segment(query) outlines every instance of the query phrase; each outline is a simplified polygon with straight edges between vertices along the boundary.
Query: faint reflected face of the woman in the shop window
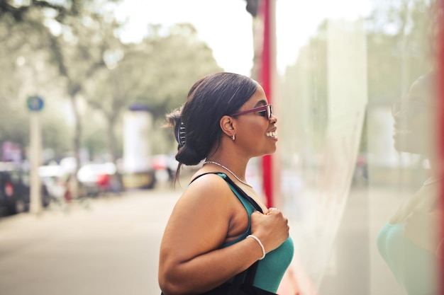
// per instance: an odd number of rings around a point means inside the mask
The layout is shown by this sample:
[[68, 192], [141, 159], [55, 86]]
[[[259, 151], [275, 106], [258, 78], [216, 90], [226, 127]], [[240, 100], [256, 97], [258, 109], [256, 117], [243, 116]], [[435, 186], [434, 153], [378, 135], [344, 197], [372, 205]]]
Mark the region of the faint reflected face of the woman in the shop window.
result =
[[432, 89], [416, 80], [405, 100], [394, 103], [394, 147], [397, 151], [431, 156], [435, 121]]

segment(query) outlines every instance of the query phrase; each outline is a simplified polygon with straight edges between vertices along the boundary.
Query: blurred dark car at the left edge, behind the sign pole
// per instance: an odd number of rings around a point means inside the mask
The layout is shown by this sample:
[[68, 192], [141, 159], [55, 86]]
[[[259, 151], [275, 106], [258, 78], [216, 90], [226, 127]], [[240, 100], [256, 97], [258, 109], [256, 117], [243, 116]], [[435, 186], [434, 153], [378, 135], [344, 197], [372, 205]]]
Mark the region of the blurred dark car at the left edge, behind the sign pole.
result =
[[[48, 207], [50, 195], [42, 184], [42, 206]], [[0, 216], [28, 212], [30, 209], [30, 176], [13, 163], [0, 163]]]

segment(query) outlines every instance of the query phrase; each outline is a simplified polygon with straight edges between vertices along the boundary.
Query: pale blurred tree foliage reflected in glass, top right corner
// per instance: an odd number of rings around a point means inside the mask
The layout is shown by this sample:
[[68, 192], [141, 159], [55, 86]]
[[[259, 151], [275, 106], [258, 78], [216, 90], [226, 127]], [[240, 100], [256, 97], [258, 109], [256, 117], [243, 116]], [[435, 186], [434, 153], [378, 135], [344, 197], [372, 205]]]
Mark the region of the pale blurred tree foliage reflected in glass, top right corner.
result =
[[379, 1], [367, 18], [371, 103], [400, 100], [414, 79], [433, 69], [438, 1]]

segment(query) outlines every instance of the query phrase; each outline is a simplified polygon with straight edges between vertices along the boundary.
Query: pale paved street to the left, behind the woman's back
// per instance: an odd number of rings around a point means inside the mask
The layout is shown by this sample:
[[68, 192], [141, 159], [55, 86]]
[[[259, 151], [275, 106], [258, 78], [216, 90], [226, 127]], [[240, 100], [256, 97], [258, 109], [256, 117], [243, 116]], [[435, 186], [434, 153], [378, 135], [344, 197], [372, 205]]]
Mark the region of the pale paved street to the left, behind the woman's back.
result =
[[179, 193], [125, 192], [0, 219], [0, 295], [160, 294], [160, 239]]

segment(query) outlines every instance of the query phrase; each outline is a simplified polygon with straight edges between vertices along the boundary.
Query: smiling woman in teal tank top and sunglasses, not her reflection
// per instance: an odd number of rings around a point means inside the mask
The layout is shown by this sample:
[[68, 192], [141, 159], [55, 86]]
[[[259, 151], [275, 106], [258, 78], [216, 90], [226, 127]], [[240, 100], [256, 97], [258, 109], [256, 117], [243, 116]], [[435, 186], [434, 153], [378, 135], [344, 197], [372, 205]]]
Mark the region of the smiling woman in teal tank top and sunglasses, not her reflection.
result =
[[194, 83], [183, 107], [167, 118], [179, 142], [177, 175], [182, 164], [205, 161], [167, 223], [160, 289], [203, 294], [260, 260], [253, 285], [275, 292], [293, 257], [289, 226], [245, 181], [250, 158], [276, 150], [277, 118], [262, 87], [246, 76], [211, 74]]

